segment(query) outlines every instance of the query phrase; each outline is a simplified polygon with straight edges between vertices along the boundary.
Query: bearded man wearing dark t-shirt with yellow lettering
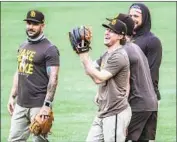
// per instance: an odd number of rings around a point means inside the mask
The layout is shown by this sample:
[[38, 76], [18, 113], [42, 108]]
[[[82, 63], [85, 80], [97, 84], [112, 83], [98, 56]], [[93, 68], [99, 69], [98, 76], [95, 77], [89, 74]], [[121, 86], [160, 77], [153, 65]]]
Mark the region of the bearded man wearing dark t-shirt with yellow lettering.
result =
[[[28, 39], [18, 50], [18, 70], [7, 105], [12, 116], [10, 142], [27, 141], [35, 115], [48, 115], [58, 83], [59, 51], [43, 34], [43, 13], [31, 10], [24, 21]], [[33, 138], [35, 142], [48, 141], [42, 135]]]

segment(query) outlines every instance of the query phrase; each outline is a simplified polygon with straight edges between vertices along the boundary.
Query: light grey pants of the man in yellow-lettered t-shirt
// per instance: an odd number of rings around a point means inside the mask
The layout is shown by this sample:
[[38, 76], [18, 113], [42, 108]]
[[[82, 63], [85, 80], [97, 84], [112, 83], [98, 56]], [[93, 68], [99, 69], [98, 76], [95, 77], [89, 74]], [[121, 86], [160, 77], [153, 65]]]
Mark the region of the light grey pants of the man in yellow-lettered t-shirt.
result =
[[[39, 112], [40, 108], [24, 108], [15, 105], [11, 118], [11, 128], [8, 142], [26, 142], [30, 136], [30, 121]], [[33, 142], [48, 142], [43, 136], [33, 136]]]

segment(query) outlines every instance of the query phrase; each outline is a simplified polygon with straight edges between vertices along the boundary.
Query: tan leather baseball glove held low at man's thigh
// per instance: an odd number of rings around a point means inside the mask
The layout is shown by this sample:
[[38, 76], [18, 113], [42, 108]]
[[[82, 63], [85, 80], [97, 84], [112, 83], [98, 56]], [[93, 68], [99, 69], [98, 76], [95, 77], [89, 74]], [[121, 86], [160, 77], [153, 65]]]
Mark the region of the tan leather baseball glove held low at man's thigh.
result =
[[53, 111], [47, 110], [47, 118], [42, 118], [41, 113], [37, 114], [29, 126], [30, 132], [34, 135], [47, 135], [52, 127], [54, 121]]

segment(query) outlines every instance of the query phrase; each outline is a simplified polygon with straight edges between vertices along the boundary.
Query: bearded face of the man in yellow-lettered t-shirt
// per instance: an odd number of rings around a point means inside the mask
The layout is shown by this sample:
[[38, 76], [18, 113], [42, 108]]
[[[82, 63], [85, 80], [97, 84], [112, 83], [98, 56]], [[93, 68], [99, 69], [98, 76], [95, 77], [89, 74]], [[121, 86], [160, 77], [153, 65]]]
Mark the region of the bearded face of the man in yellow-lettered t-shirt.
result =
[[32, 22], [32, 21], [26, 21], [26, 34], [30, 38], [36, 38], [38, 37], [44, 30], [44, 24]]

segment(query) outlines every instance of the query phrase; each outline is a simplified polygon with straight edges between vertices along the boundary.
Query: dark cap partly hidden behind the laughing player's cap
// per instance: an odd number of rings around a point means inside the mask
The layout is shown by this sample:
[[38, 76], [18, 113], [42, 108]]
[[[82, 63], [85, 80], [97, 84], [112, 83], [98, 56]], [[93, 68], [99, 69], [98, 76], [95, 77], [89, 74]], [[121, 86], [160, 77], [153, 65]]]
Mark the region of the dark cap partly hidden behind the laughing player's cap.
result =
[[116, 16], [115, 18], [106, 18], [108, 21], [111, 21], [113, 19], [119, 19], [122, 22], [124, 22], [127, 26], [127, 35], [131, 36], [133, 34], [133, 29], [134, 29], [134, 22], [133, 19], [128, 15], [128, 14], [123, 14], [120, 13], [118, 16]]

